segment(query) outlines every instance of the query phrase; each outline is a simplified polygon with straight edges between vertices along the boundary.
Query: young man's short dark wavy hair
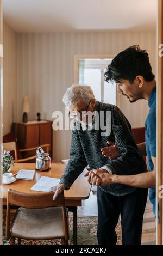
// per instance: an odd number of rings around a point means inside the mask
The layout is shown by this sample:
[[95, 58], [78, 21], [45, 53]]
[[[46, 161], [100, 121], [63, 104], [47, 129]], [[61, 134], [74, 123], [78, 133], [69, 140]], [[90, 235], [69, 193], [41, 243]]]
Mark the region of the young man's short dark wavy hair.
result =
[[106, 68], [105, 81], [120, 83], [121, 79], [132, 84], [136, 76], [143, 76], [145, 81], [151, 82], [155, 75], [152, 73], [149, 56], [146, 50], [141, 50], [139, 45], [133, 45], [118, 53]]

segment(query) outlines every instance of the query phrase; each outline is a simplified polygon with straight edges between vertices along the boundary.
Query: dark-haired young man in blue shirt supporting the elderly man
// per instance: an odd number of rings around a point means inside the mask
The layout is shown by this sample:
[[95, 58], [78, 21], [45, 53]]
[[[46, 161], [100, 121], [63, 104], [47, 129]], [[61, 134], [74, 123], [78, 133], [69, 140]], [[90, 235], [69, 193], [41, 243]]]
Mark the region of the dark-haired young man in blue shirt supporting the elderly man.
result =
[[[118, 183], [133, 187], [151, 188], [149, 199], [153, 204], [155, 214], [156, 81], [149, 63], [148, 53], [145, 50], [140, 50], [137, 45], [120, 52], [108, 66], [105, 72], [105, 80], [118, 83], [118, 92], [126, 96], [131, 103], [139, 99], [148, 100], [150, 109], [146, 119], [146, 141], [137, 144], [137, 149], [141, 155], [147, 155], [149, 172], [122, 176], [101, 173], [99, 170], [95, 170], [89, 173], [91, 183], [95, 184], [94, 179], [97, 180], [98, 176], [101, 178], [98, 182], [103, 186]], [[108, 143], [112, 144], [111, 142]], [[111, 159], [121, 155], [121, 153], [118, 153], [118, 145], [111, 145], [101, 150], [105, 157]]]

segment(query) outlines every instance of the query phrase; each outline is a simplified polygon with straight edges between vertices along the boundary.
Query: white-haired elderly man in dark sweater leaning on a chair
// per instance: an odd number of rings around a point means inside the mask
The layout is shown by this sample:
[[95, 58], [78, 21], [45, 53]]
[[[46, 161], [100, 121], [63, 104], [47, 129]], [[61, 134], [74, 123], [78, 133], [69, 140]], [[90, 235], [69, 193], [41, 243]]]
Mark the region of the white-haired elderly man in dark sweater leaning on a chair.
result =
[[[53, 200], [63, 190], [68, 190], [74, 180], [89, 164], [88, 180], [91, 183], [93, 170], [102, 173], [130, 175], [146, 172], [146, 164], [137, 151], [131, 126], [120, 109], [114, 105], [98, 102], [89, 86], [73, 85], [68, 88], [63, 102], [74, 119], [70, 161], [60, 184], [53, 187]], [[108, 113], [110, 118], [107, 119]], [[90, 115], [93, 115], [90, 122]], [[98, 118], [97, 118], [98, 117]], [[105, 123], [103, 130], [101, 122]], [[98, 125], [99, 124], [99, 125]], [[106, 141], [115, 141], [120, 156], [111, 160], [101, 154]], [[95, 181], [95, 176], [93, 176]], [[99, 185], [98, 176], [96, 185]], [[140, 245], [142, 221], [147, 200], [147, 189], [122, 184], [98, 186], [98, 243], [116, 245], [115, 227], [121, 214], [123, 245]]]

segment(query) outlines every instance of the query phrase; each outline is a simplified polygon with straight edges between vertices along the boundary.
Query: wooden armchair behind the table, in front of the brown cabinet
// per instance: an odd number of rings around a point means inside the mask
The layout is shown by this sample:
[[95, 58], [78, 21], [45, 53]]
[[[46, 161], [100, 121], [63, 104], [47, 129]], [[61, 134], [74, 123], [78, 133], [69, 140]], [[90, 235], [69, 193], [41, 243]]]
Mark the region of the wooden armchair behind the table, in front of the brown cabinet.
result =
[[[46, 153], [49, 153], [49, 148], [50, 148], [50, 144], [43, 144], [34, 148], [28, 148], [28, 149], [18, 149], [20, 153], [24, 152], [24, 151], [32, 151], [32, 150], [36, 150], [38, 147], [41, 147], [43, 149], [45, 149]], [[12, 142], [5, 142], [3, 143], [3, 150], [6, 151], [14, 151], [14, 162], [15, 163], [22, 163], [22, 162], [27, 162], [30, 160], [33, 160], [36, 158], [36, 155], [34, 156], [29, 156], [26, 158], [22, 158], [22, 159], [17, 159], [17, 147], [16, 147], [16, 142], [12, 141]]]

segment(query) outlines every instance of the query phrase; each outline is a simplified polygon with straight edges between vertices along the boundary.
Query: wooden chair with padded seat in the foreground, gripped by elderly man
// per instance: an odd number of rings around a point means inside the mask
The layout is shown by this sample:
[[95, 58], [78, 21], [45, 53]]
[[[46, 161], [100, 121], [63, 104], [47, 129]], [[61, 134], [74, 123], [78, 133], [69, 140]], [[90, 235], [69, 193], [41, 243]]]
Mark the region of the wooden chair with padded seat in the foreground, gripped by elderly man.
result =
[[[53, 201], [54, 193], [41, 194], [8, 191], [6, 239], [10, 245], [18, 245], [21, 239], [49, 240], [61, 239], [61, 245], [68, 244], [68, 223], [65, 208], [64, 192]], [[19, 206], [10, 224], [10, 206]]]

